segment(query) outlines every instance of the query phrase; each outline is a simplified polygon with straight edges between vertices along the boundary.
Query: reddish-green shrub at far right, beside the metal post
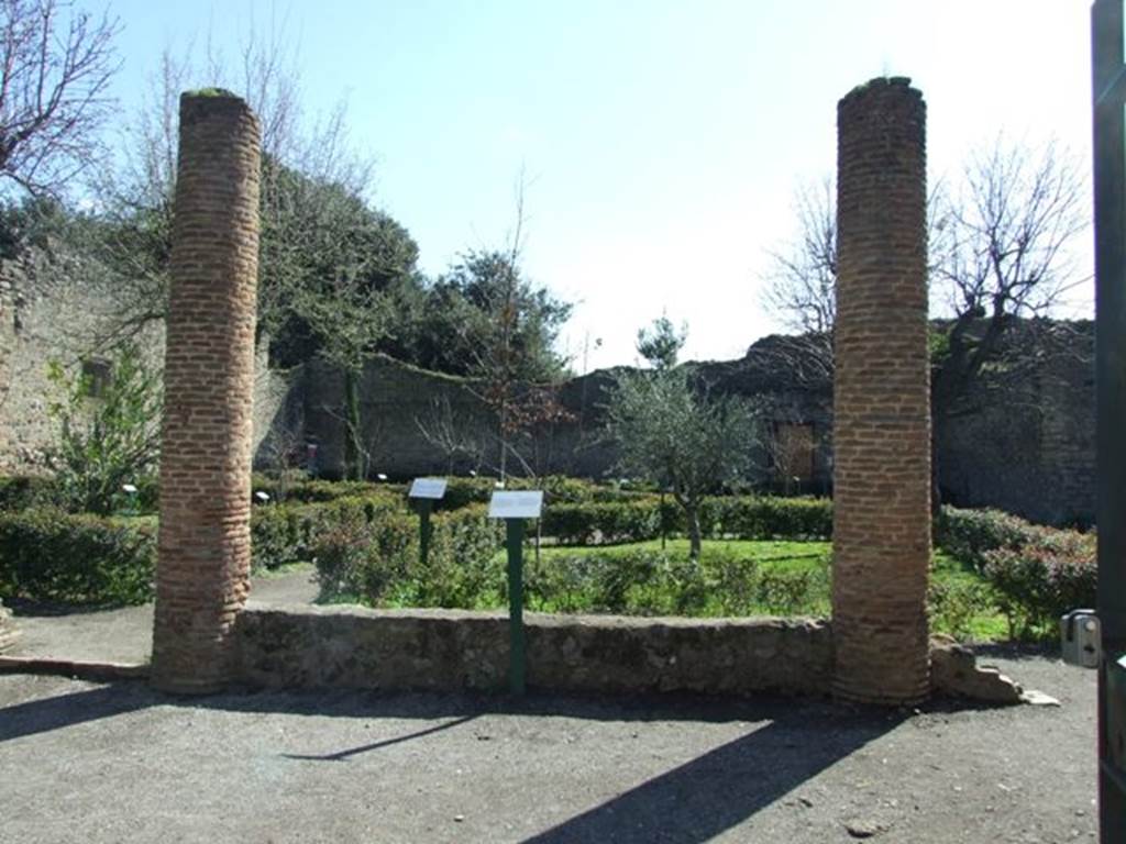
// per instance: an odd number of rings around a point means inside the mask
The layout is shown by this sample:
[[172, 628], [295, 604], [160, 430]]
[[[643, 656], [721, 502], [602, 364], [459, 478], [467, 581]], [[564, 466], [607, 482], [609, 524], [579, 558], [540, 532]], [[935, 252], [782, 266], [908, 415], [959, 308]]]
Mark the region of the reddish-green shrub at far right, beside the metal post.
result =
[[983, 571], [997, 589], [1010, 634], [1052, 635], [1062, 614], [1094, 605], [1096, 538], [1071, 530], [1029, 530], [1019, 547], [986, 551]]

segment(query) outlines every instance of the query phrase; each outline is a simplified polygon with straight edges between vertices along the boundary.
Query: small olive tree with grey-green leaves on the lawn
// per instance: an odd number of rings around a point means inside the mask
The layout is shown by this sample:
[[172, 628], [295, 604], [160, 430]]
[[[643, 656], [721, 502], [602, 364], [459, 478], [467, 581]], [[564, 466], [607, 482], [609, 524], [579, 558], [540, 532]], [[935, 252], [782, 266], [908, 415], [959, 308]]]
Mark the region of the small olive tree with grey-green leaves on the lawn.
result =
[[683, 367], [626, 372], [610, 395], [607, 420], [619, 466], [670, 490], [685, 511], [692, 559], [700, 555], [704, 496], [750, 470], [756, 417], [744, 398], [695, 390]]

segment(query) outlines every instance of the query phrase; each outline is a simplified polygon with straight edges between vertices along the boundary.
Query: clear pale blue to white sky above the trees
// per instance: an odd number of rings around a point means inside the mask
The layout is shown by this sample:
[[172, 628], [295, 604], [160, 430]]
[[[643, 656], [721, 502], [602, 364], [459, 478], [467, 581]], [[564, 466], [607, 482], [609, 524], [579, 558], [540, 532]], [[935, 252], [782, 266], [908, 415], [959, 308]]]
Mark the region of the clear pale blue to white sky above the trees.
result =
[[688, 322], [689, 358], [739, 357], [777, 330], [759, 303], [766, 252], [793, 234], [795, 188], [832, 173], [837, 100], [873, 77], [922, 90], [936, 177], [1000, 132], [1055, 137], [1090, 171], [1084, 0], [110, 8], [125, 110], [166, 46], [209, 32], [231, 50], [252, 21], [285, 18], [305, 108], [348, 97], [352, 140], [378, 160], [373, 199], [410, 230], [427, 272], [504, 241], [522, 171], [525, 268], [577, 303], [563, 338], [577, 370], [631, 362], [637, 329], [662, 312]]

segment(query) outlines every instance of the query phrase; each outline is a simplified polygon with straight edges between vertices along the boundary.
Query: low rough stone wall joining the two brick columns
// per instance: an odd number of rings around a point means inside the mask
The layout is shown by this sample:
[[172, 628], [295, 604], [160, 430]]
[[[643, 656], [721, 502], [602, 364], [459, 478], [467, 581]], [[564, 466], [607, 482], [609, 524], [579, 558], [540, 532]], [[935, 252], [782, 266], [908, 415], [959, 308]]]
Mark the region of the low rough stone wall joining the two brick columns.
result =
[[[525, 618], [528, 685], [582, 692], [821, 694], [832, 632], [805, 619]], [[272, 688], [501, 690], [501, 612], [261, 607], [239, 617], [239, 677]]]

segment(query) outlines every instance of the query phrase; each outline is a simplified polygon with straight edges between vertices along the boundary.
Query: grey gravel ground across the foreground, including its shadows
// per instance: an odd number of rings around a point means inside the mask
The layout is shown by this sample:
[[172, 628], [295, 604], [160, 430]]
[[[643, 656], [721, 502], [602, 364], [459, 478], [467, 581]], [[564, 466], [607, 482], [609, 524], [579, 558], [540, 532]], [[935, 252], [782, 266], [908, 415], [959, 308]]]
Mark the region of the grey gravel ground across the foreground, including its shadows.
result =
[[1092, 841], [1093, 672], [994, 662], [1063, 706], [182, 699], [0, 676], [0, 841]]

